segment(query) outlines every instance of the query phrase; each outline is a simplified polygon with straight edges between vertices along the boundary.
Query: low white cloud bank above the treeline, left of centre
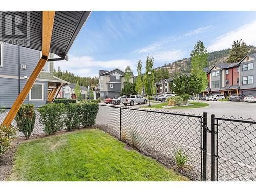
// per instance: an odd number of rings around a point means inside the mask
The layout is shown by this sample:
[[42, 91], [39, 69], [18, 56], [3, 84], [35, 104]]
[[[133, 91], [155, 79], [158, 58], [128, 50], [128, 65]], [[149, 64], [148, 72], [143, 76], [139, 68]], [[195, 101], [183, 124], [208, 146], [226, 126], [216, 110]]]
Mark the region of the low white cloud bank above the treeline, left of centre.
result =
[[136, 63], [130, 60], [116, 59], [109, 61], [99, 61], [89, 56], [76, 57], [69, 55], [68, 61], [64, 60], [54, 63], [55, 69], [60, 66], [61, 71], [68, 70], [69, 72], [82, 77], [98, 76], [100, 69], [111, 70], [114, 68], [119, 68], [124, 70], [128, 65], [131, 66], [132, 70], [136, 69]]

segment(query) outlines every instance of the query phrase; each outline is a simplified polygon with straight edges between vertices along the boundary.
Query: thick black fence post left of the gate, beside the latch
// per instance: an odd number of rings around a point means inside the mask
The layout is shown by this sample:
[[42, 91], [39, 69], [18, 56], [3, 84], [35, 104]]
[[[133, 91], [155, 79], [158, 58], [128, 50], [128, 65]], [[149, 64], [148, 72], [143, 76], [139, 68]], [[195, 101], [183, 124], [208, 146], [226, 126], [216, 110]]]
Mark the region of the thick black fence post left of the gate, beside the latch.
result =
[[206, 178], [207, 178], [206, 163], [207, 163], [207, 112], [203, 112], [203, 181], [206, 181]]

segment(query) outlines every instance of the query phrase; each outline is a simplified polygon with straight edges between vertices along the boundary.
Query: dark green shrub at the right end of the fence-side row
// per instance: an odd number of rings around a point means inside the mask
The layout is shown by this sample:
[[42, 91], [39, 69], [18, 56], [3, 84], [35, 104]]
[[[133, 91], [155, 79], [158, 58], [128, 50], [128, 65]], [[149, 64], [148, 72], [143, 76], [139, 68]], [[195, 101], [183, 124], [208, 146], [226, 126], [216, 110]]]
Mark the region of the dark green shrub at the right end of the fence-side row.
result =
[[80, 103], [81, 124], [83, 127], [92, 127], [99, 111], [97, 103], [83, 102]]

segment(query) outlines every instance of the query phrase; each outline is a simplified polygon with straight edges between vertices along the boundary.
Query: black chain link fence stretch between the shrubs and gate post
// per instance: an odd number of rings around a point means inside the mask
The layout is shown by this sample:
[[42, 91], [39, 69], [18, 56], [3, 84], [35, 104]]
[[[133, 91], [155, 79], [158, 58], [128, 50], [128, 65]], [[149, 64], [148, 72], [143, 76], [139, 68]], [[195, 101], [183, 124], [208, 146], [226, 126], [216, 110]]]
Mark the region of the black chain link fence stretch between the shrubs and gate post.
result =
[[187, 156], [183, 174], [201, 180], [202, 117], [182, 113], [100, 105], [96, 126], [167, 167], [176, 167], [176, 152]]

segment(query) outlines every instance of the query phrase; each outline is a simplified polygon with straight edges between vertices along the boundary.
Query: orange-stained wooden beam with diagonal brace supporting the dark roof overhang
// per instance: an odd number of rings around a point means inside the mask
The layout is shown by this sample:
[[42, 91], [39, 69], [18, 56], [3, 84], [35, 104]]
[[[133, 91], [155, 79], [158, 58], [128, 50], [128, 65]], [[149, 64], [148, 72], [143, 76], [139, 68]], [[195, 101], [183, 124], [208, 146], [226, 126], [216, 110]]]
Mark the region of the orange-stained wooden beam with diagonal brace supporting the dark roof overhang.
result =
[[7, 114], [2, 125], [9, 126], [11, 124], [11, 122], [13, 121], [14, 117], [16, 116], [20, 106], [26, 99], [29, 91], [31, 90], [34, 82], [36, 81], [36, 78], [40, 74], [42, 68], [44, 68], [44, 66], [45, 66], [45, 63], [46, 63], [46, 61], [48, 59], [48, 55], [49, 55], [50, 45], [51, 45], [54, 16], [55, 16], [55, 11], [43, 11], [42, 12], [42, 57], [40, 58], [33, 73], [31, 74], [28, 81], [26, 82], [23, 90], [20, 92], [17, 99], [14, 101], [12, 108], [10, 109], [9, 113]]

